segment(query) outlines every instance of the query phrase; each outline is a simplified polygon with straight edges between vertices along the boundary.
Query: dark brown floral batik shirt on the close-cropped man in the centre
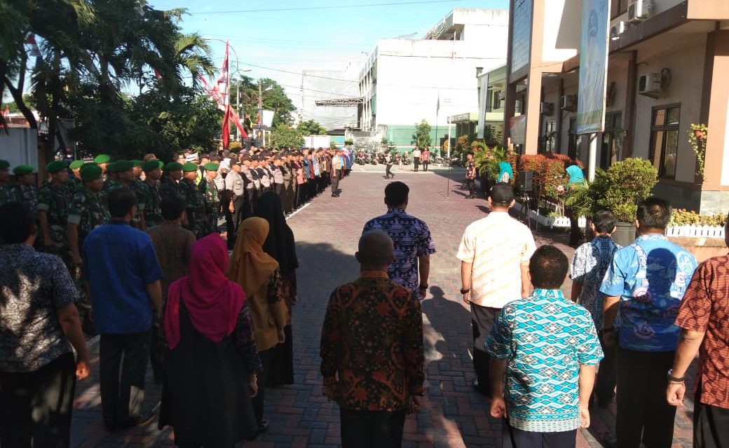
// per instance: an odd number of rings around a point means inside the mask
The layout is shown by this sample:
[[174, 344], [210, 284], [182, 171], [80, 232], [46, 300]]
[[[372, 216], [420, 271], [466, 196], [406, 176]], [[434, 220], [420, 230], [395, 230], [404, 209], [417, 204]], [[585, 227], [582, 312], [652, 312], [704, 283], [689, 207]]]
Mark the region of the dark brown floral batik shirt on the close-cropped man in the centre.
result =
[[321, 331], [324, 385], [343, 409], [402, 411], [423, 394], [420, 302], [385, 272], [362, 272], [330, 296]]

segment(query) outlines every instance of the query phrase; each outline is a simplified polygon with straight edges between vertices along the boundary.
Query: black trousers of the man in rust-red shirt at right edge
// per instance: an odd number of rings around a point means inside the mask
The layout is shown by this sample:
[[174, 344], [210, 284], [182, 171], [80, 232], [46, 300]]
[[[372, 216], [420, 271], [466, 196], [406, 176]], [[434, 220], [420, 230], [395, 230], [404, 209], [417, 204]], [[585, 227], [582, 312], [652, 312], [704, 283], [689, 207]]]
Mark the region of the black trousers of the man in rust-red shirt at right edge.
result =
[[693, 401], [693, 446], [729, 447], [729, 409], [701, 403], [701, 381], [696, 383]]

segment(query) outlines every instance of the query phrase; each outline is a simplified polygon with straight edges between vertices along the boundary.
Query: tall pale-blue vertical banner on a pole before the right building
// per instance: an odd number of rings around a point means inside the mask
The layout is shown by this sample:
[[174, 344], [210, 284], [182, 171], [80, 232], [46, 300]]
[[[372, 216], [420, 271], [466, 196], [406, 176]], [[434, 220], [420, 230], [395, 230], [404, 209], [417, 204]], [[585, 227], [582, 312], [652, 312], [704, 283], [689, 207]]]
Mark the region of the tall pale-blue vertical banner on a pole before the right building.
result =
[[609, 17], [609, 0], [582, 0], [578, 134], [600, 133], [605, 129]]

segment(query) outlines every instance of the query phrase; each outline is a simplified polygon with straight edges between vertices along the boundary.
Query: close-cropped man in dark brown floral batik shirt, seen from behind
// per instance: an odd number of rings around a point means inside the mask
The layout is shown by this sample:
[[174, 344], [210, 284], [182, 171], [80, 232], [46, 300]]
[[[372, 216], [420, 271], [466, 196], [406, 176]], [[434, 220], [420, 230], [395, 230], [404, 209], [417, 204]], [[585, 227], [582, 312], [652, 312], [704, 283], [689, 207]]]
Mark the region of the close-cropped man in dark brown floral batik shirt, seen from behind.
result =
[[382, 230], [359, 239], [359, 280], [330, 296], [321, 330], [322, 393], [340, 407], [343, 448], [397, 448], [405, 413], [422, 405], [420, 302], [387, 278], [393, 245]]

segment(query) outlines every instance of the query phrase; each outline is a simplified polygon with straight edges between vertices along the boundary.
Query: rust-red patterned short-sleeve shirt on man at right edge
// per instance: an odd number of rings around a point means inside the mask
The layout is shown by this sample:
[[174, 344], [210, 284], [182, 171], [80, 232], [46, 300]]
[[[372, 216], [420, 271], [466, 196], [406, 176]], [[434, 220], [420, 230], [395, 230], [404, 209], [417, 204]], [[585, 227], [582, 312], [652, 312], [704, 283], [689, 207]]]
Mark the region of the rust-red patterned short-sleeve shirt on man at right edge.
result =
[[676, 325], [703, 332], [701, 403], [729, 409], [729, 256], [706, 260], [691, 278]]

